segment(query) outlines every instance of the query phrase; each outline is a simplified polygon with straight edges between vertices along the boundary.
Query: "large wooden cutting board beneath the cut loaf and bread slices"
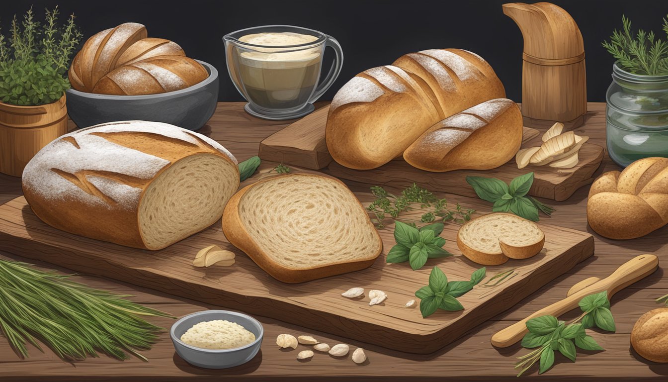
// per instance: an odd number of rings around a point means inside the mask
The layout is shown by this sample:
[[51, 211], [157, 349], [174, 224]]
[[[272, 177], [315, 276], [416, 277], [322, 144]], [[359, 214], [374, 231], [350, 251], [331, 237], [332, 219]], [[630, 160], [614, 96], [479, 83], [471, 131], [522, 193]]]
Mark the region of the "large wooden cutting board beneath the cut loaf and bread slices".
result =
[[[362, 201], [371, 200], [366, 193], [357, 196]], [[480, 208], [475, 204], [471, 207]], [[444, 248], [454, 254], [460, 254], [455, 241], [458, 227], [448, 223], [442, 233], [448, 241]], [[486, 280], [511, 268], [516, 268], [516, 276], [493, 288], [476, 286], [459, 298], [465, 308], [460, 312], [438, 311], [428, 318], [422, 318], [418, 307], [403, 306], [411, 299], [419, 304], [413, 294], [428, 284], [432, 267], [440, 266], [449, 280], [468, 280], [480, 266], [463, 256], [429, 260], [417, 271], [411, 270], [407, 263], [386, 264], [385, 254], [394, 244], [393, 227], [379, 231], [383, 254], [370, 268], [313, 282], [284, 284], [228, 244], [220, 222], [164, 250], [152, 252], [54, 229], [39, 220], [25, 199], [19, 197], [0, 206], [0, 250], [396, 351], [433, 353], [514, 306], [594, 252], [594, 240], [589, 233], [552, 225], [541, 224], [541, 227], [546, 241], [540, 254], [488, 267]], [[196, 252], [212, 244], [234, 251], [236, 263], [227, 268], [192, 266]], [[367, 292], [383, 290], [387, 300], [369, 306], [368, 297], [351, 300], [341, 296], [345, 290], [357, 286]]]

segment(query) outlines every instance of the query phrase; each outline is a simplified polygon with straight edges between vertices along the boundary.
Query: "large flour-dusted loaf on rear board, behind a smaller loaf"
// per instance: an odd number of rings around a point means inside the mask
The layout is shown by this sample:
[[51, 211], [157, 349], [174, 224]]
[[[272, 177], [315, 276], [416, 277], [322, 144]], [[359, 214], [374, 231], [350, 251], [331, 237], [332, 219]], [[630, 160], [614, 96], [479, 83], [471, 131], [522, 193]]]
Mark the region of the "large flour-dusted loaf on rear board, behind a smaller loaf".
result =
[[439, 120], [505, 96], [492, 67], [476, 54], [407, 54], [357, 74], [337, 92], [327, 116], [327, 149], [345, 167], [373, 169], [401, 155]]

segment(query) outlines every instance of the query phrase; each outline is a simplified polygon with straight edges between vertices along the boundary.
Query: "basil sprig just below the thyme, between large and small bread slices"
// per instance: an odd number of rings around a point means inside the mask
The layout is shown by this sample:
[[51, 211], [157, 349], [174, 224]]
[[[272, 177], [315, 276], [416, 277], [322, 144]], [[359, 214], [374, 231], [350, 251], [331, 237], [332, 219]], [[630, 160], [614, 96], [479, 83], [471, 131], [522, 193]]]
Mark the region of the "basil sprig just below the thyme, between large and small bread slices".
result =
[[418, 229], [401, 221], [395, 221], [394, 240], [397, 242], [387, 253], [386, 262], [409, 262], [413, 270], [424, 266], [429, 258], [446, 258], [452, 254], [442, 247], [446, 244], [443, 237], [443, 223], [433, 223]]

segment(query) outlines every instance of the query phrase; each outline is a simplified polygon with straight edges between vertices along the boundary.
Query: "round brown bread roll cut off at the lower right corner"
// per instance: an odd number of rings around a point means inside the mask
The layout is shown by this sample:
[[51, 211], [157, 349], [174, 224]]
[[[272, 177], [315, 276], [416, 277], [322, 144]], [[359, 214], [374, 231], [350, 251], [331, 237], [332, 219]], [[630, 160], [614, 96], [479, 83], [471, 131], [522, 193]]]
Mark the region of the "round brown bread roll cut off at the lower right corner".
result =
[[649, 361], [668, 363], [668, 308], [643, 314], [631, 330], [631, 346]]

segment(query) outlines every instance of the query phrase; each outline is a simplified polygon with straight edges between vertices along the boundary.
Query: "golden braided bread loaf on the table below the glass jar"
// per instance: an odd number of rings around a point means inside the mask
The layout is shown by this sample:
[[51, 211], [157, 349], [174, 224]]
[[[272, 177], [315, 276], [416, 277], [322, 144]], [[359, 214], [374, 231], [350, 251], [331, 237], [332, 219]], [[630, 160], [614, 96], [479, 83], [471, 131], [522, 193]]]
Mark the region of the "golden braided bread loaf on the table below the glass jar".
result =
[[634, 239], [668, 223], [668, 159], [640, 159], [589, 190], [587, 221], [602, 236]]

